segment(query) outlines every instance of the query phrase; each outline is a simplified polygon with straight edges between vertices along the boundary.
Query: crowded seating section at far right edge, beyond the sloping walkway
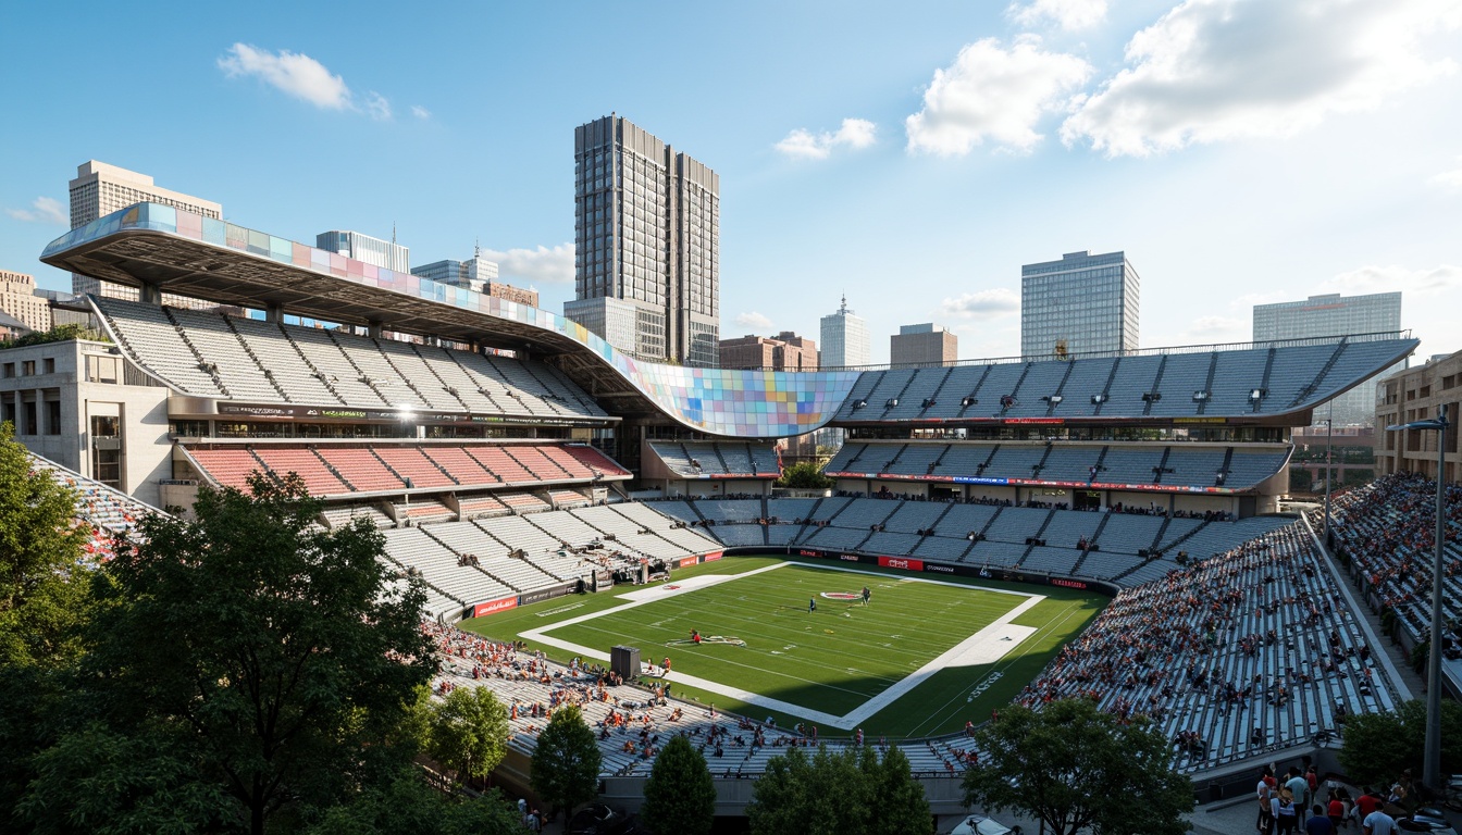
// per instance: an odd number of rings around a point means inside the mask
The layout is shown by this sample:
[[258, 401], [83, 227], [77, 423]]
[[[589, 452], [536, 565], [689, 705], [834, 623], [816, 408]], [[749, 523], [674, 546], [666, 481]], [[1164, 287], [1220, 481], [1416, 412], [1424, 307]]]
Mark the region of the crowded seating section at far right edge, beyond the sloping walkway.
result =
[[[1398, 472], [1333, 500], [1333, 531], [1352, 572], [1415, 641], [1431, 633], [1436, 481]], [[1462, 623], [1462, 485], [1447, 484], [1442, 616]], [[1446, 664], [1462, 676], [1462, 635], [1446, 630]]]

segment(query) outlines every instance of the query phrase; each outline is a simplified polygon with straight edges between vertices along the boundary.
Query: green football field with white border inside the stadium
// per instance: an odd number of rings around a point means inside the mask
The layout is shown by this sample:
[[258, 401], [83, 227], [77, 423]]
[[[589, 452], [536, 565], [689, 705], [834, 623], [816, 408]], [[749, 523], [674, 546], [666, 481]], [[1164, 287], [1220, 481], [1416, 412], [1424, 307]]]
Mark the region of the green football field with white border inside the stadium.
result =
[[[870, 605], [825, 597], [863, 586]], [[732, 557], [677, 569], [668, 582], [556, 598], [462, 626], [525, 639], [560, 661], [637, 646], [646, 662], [671, 660], [680, 698], [779, 724], [808, 721], [825, 736], [861, 727], [902, 737], [987, 718], [1105, 602], [1057, 586]], [[693, 645], [693, 629], [734, 641]]]

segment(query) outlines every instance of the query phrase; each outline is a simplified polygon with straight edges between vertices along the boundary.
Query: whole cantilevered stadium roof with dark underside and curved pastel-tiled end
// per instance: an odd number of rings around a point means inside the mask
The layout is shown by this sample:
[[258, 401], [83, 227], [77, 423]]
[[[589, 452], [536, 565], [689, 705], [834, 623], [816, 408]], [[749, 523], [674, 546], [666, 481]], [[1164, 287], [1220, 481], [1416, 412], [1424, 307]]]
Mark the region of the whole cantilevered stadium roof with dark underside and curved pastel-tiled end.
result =
[[345, 325], [553, 355], [605, 408], [737, 437], [826, 424], [858, 371], [744, 371], [645, 363], [556, 313], [377, 268], [158, 203], [51, 241], [41, 260], [132, 287]]

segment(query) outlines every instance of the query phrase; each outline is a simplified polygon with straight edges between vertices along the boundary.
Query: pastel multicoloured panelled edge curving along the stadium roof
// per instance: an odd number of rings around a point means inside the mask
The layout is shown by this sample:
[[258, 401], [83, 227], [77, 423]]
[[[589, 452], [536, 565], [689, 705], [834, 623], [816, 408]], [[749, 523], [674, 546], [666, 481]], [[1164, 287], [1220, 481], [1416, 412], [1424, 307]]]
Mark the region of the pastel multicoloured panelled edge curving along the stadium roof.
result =
[[[816, 430], [832, 420], [860, 376], [860, 371], [747, 371], [646, 363], [621, 354], [588, 328], [557, 313], [377, 268], [161, 203], [137, 203], [72, 230], [47, 244], [41, 260], [61, 269], [73, 269], [70, 254], [75, 250], [85, 247], [94, 252], [104, 249], [98, 244], [108, 241], [118, 241], [117, 249], [124, 249], [120, 241], [139, 233], [187, 241], [197, 250], [196, 254], [203, 254], [208, 249], [237, 253], [275, 262], [270, 265], [275, 269], [278, 269], [275, 265], [284, 265], [291, 271], [313, 273], [329, 281], [352, 282], [453, 311], [475, 313], [487, 317], [484, 330], [488, 320], [506, 320], [556, 333], [576, 345], [579, 354], [592, 355], [599, 364], [616, 371], [665, 417], [708, 434], [787, 437]], [[206, 265], [192, 266], [193, 272], [209, 269]], [[115, 272], [98, 278], [108, 281], [132, 278], [139, 284], [156, 284]], [[382, 301], [389, 303], [390, 298]], [[327, 314], [311, 314], [329, 319]]]

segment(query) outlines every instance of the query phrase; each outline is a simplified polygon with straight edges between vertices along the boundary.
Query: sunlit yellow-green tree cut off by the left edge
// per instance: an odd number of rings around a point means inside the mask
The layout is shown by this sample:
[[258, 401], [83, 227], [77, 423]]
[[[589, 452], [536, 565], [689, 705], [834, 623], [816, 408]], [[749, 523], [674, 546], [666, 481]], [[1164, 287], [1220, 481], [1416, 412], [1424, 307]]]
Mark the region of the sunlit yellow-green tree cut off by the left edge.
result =
[[48, 715], [63, 673], [80, 655], [89, 608], [82, 557], [91, 528], [76, 525], [75, 494], [34, 471], [13, 427], [0, 423], [0, 822], [35, 777], [31, 757], [54, 743]]

